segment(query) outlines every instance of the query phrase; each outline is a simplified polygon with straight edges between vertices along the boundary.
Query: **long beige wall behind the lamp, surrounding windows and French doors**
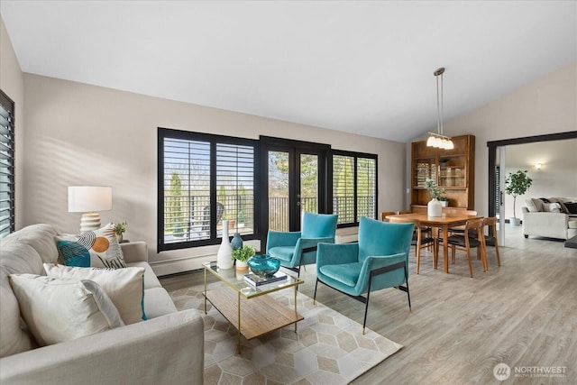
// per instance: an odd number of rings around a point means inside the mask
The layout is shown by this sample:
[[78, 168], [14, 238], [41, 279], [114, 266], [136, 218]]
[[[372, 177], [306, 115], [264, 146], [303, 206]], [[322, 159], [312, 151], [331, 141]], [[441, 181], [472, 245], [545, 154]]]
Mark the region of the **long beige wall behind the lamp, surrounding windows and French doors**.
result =
[[[142, 96], [105, 87], [24, 75], [26, 202], [23, 225], [47, 222], [78, 232], [67, 212], [67, 188], [113, 187], [105, 221], [128, 222], [126, 238], [149, 244], [160, 274], [199, 268], [216, 246], [156, 252], [157, 127], [257, 139], [259, 135], [322, 142], [379, 154], [379, 209], [403, 206], [405, 144], [259, 116]], [[201, 257], [190, 263], [189, 257]]]

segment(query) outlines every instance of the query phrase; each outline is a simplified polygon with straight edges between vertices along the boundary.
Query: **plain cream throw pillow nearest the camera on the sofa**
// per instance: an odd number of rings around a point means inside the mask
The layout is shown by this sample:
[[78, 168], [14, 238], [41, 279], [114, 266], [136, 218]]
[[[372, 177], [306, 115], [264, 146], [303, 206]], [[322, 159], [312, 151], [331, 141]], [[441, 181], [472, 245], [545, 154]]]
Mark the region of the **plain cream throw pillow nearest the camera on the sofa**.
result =
[[123, 326], [113, 302], [92, 280], [11, 274], [20, 313], [41, 346]]

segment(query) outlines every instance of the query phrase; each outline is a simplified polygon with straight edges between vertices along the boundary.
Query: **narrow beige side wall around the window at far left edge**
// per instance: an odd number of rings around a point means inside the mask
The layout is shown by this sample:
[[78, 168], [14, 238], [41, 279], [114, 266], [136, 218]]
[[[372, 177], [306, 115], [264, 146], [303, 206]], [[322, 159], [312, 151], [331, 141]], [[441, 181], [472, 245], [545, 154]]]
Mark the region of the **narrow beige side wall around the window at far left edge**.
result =
[[0, 17], [0, 89], [14, 101], [15, 121], [15, 170], [16, 170], [16, 227], [23, 224], [23, 159], [24, 159], [24, 89], [23, 73], [16, 59], [12, 41]]

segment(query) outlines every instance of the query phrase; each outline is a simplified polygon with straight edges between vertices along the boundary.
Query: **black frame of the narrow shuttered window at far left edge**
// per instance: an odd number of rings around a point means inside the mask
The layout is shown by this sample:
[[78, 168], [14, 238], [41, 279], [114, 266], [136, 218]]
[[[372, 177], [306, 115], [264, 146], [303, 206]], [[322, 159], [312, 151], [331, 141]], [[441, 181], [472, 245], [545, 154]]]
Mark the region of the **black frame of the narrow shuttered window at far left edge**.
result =
[[[7, 210], [5, 208], [0, 208], [0, 238], [4, 238], [6, 235], [14, 233], [16, 228], [16, 188], [15, 188], [15, 104], [9, 96], [5, 94], [4, 91], [0, 89], [0, 104], [3, 105], [4, 109], [8, 113], [7, 133], [2, 133], [6, 137], [6, 143], [3, 147], [6, 147], [5, 153], [7, 154], [7, 159], [4, 162], [5, 166], [2, 167], [2, 177], [5, 180], [0, 180], [0, 190], [7, 193]], [[6, 169], [6, 172], [4, 172]], [[7, 215], [2, 215], [7, 211]], [[6, 225], [2, 223], [8, 221]]]

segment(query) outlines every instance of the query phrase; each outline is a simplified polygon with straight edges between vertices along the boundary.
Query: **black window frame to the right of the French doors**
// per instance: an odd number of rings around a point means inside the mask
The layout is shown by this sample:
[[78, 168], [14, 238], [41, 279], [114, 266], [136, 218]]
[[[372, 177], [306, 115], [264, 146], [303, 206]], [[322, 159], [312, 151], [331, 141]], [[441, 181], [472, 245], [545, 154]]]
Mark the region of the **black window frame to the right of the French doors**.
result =
[[378, 154], [371, 154], [368, 152], [357, 152], [357, 151], [344, 151], [344, 150], [332, 150], [331, 151], [331, 157], [329, 160], [329, 174], [330, 174], [330, 180], [329, 180], [329, 185], [330, 185], [330, 196], [331, 196], [331, 212], [333, 214], [339, 214], [339, 213], [335, 213], [334, 212], [334, 156], [345, 156], [345, 157], [351, 157], [354, 159], [354, 167], [353, 167], [353, 171], [354, 171], [354, 176], [353, 176], [353, 194], [354, 194], [354, 213], [353, 213], [353, 217], [354, 220], [353, 222], [347, 222], [347, 223], [340, 223], [337, 224], [337, 228], [345, 228], [345, 227], [355, 227], [359, 225], [359, 212], [358, 212], [358, 197], [357, 197], [357, 193], [358, 193], [358, 160], [360, 158], [362, 159], [370, 159], [370, 160], [374, 160], [375, 162], [375, 179], [374, 179], [374, 185], [375, 185], [375, 203], [374, 203], [374, 216], [372, 217], [372, 219], [377, 219], [377, 213], [379, 211], [379, 207], [378, 207], [378, 198], [379, 198], [379, 155]]

